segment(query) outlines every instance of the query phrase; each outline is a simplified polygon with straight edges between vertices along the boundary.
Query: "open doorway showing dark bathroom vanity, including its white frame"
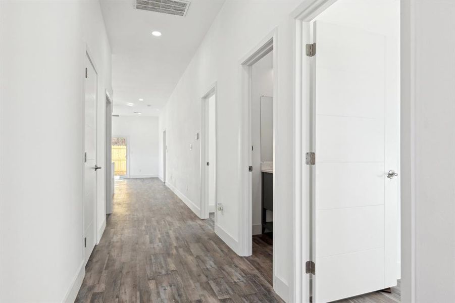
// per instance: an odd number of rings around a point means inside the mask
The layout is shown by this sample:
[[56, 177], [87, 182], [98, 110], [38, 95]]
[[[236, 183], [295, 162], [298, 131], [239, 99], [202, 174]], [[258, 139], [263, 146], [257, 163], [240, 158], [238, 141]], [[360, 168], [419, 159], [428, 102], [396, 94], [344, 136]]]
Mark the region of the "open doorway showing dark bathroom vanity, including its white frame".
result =
[[[271, 32], [240, 61], [242, 66], [242, 154], [243, 203], [240, 210], [240, 251], [256, 264], [268, 282], [281, 285], [274, 266], [273, 243], [276, 211], [276, 31]], [[278, 286], [277, 286], [278, 285]]]

